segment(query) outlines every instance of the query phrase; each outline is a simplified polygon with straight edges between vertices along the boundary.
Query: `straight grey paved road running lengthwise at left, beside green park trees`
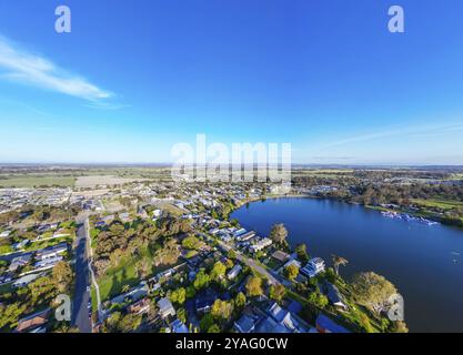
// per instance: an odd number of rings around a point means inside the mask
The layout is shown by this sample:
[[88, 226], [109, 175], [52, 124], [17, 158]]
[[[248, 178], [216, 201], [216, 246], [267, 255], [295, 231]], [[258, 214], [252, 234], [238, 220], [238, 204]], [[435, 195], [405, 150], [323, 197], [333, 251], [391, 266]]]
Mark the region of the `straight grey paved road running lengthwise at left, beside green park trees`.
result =
[[76, 253], [76, 291], [72, 305], [72, 325], [77, 326], [81, 333], [91, 333], [92, 325], [88, 310], [90, 293], [87, 291], [90, 284], [89, 260], [87, 252], [87, 232], [83, 223], [81, 223], [77, 232]]

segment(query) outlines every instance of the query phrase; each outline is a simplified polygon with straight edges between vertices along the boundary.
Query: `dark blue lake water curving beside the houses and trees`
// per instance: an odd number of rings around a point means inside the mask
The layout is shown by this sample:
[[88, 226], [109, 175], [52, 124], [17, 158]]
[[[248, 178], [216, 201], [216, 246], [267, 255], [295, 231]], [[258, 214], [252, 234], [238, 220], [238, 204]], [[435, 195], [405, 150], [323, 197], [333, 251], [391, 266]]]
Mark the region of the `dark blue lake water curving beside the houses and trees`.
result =
[[361, 271], [385, 276], [404, 296], [410, 332], [463, 332], [463, 230], [316, 199], [254, 202], [232, 217], [263, 236], [284, 223], [291, 245], [306, 243], [330, 265], [331, 254], [348, 258], [340, 266], [346, 280]]

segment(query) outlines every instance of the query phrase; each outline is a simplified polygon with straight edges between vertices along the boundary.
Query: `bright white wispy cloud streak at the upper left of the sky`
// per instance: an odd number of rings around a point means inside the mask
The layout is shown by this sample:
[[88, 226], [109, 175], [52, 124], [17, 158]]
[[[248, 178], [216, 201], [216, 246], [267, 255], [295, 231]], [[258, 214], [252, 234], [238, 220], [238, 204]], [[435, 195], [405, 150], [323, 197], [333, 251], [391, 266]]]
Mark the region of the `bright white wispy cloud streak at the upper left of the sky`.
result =
[[0, 78], [52, 90], [98, 104], [113, 98], [87, 79], [40, 55], [31, 54], [0, 36]]

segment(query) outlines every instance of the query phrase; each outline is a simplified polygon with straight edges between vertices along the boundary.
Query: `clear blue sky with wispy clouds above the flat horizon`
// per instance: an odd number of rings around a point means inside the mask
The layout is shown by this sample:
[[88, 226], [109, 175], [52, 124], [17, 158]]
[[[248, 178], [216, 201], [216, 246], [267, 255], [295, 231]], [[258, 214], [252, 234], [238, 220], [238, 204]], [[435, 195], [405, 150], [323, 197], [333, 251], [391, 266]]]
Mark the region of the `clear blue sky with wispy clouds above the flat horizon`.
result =
[[[54, 31], [54, 9], [72, 32]], [[405, 33], [387, 9], [405, 10]], [[0, 162], [169, 162], [289, 142], [294, 163], [463, 164], [460, 0], [2, 0]]]

